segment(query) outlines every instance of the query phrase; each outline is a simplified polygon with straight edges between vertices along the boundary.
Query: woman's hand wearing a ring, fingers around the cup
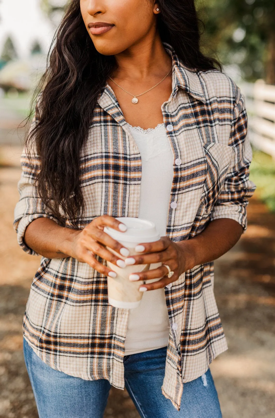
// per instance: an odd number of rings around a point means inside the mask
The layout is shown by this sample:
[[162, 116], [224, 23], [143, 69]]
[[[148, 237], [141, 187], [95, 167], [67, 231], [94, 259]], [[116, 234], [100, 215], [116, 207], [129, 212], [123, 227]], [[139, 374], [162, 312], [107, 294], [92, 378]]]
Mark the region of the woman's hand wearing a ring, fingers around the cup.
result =
[[[148, 270], [141, 273], [133, 273], [129, 280], [150, 280], [160, 278], [153, 283], [140, 286], [140, 291], [154, 290], [163, 288], [169, 283], [175, 282], [179, 276], [186, 270], [193, 268], [194, 255], [190, 251], [188, 240], [180, 243], [173, 242], [168, 237], [161, 237], [159, 241], [139, 244], [135, 247], [139, 255], [133, 255], [125, 259], [126, 265], [152, 264], [161, 262], [163, 265], [154, 270]], [[168, 278], [168, 268], [174, 272], [172, 277]]]

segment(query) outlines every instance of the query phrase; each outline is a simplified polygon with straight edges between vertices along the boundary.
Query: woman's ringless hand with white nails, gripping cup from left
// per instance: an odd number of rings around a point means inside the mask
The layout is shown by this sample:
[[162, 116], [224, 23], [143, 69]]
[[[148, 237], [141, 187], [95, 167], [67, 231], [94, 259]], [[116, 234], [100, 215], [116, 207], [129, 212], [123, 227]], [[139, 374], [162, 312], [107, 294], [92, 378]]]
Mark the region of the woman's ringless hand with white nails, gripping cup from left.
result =
[[120, 268], [124, 268], [124, 261], [107, 250], [106, 247], [111, 248], [124, 257], [128, 257], [129, 250], [111, 238], [110, 235], [106, 234], [103, 231], [104, 227], [110, 227], [120, 232], [127, 230], [125, 224], [122, 224], [112, 216], [103, 215], [97, 217], [87, 227], [75, 233], [72, 240], [70, 256], [80, 261], [80, 263], [89, 264], [99, 273], [115, 278], [117, 274], [109, 267], [99, 263], [95, 256], [99, 255], [104, 260], [116, 264]]

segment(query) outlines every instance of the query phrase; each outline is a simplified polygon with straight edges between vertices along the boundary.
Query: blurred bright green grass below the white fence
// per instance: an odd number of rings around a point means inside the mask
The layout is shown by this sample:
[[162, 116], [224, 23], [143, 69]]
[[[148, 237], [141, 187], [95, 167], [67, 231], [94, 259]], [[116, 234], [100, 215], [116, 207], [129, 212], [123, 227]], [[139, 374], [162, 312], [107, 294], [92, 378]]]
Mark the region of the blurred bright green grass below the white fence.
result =
[[253, 150], [250, 180], [256, 184], [260, 199], [275, 212], [275, 161], [270, 155]]

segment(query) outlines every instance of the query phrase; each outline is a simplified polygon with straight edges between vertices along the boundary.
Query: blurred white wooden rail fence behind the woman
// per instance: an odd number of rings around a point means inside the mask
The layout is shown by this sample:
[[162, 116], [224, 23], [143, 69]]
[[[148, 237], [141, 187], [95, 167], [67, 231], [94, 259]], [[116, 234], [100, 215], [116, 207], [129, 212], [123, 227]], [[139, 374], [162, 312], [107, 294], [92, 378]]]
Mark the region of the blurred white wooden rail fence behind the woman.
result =
[[240, 88], [246, 99], [250, 142], [275, 159], [275, 86], [258, 80]]

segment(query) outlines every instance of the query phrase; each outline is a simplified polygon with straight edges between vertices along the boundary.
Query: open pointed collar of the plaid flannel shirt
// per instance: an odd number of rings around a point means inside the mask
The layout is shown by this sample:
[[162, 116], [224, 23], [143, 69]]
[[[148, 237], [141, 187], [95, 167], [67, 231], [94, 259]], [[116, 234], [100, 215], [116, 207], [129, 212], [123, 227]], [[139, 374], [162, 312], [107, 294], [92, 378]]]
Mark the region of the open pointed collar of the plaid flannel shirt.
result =
[[[186, 67], [169, 43], [164, 42], [163, 46], [172, 58], [172, 97], [176, 94], [178, 88], [180, 87], [190, 94], [190, 96], [206, 103], [205, 94], [203, 92], [203, 87], [197, 71]], [[99, 95], [97, 102], [100, 104], [102, 109], [106, 110], [107, 113], [109, 113], [109, 115], [114, 117], [117, 121], [123, 121], [124, 117], [117, 99], [108, 84]]]

